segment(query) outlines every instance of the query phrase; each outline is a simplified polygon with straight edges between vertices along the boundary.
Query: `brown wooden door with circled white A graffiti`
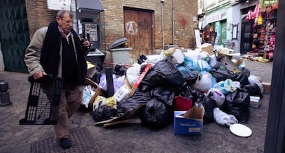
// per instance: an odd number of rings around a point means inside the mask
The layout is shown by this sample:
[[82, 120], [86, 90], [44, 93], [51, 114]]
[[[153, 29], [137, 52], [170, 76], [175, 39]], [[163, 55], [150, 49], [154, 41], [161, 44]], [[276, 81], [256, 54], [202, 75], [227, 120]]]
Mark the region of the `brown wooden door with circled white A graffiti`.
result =
[[128, 45], [131, 63], [137, 63], [140, 55], [153, 52], [153, 22], [152, 13], [140, 10], [124, 10], [125, 37]]

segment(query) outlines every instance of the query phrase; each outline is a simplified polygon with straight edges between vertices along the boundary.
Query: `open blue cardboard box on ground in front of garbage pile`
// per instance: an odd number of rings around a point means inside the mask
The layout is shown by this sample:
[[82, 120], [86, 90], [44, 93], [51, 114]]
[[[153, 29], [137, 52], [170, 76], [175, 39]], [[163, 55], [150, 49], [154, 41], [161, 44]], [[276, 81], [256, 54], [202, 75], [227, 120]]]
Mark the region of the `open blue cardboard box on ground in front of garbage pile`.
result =
[[202, 134], [204, 108], [193, 106], [187, 111], [174, 111], [174, 134]]

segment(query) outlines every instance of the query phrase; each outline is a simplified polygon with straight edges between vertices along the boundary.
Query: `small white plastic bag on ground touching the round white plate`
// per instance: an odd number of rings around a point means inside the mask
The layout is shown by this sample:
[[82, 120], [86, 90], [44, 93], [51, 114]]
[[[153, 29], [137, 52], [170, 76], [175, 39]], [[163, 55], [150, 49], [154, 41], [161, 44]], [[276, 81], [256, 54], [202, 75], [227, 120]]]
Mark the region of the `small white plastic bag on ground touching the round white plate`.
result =
[[238, 123], [237, 119], [235, 119], [235, 116], [233, 116], [231, 114], [226, 114], [225, 112], [222, 112], [222, 110], [220, 110], [220, 108], [214, 108], [213, 116], [214, 116], [215, 122], [218, 123], [219, 125], [231, 126], [231, 124]]

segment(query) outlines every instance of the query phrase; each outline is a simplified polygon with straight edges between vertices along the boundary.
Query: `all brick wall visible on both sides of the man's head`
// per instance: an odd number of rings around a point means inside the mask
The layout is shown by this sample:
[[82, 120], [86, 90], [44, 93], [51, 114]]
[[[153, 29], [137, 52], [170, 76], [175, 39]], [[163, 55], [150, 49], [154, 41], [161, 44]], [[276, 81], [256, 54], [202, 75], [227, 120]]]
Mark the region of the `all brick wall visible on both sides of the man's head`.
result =
[[[47, 0], [25, 0], [28, 15], [30, 37], [34, 32], [54, 21], [56, 10], [47, 10]], [[159, 0], [125, 0], [102, 1], [104, 11], [101, 12], [102, 48], [116, 39], [125, 36], [123, 7], [140, 8], [154, 11], [154, 48], [162, 49], [162, 13]], [[198, 2], [194, 0], [165, 0], [163, 3], [163, 20], [165, 27], [165, 45], [174, 43], [183, 48], [194, 48], [195, 38], [193, 28], [197, 27], [193, 17], [197, 17]], [[174, 14], [174, 28], [172, 23], [172, 8]]]

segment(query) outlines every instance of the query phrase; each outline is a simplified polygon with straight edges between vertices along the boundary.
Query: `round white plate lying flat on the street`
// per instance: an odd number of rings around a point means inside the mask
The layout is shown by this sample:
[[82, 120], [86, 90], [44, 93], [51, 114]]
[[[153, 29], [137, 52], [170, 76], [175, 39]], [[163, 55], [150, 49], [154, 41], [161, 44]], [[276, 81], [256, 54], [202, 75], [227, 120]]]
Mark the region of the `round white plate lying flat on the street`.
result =
[[232, 124], [230, 126], [230, 131], [236, 136], [242, 136], [242, 137], [248, 137], [251, 136], [251, 134], [253, 134], [253, 132], [249, 127], [242, 124]]

